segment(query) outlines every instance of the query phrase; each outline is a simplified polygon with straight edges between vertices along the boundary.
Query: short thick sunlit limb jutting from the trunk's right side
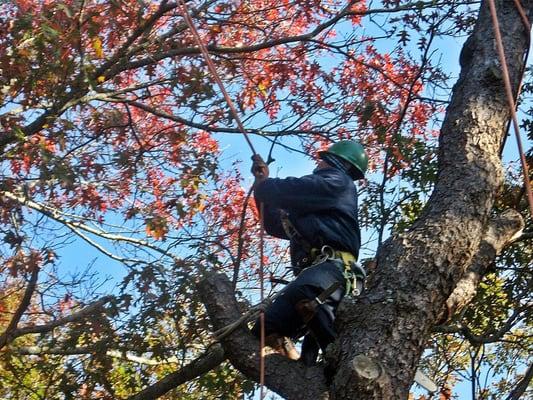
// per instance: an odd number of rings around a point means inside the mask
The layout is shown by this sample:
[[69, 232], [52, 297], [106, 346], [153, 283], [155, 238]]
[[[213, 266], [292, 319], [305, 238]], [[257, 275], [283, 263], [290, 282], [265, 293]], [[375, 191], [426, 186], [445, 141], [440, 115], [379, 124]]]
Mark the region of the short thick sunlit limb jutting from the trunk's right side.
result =
[[524, 229], [524, 220], [514, 210], [507, 210], [489, 222], [487, 232], [479, 245], [472, 264], [446, 301], [446, 310], [442, 323], [470, 303], [477, 293], [481, 279], [494, 262], [496, 256], [500, 254], [507, 244], [512, 242], [517, 236], [520, 236], [522, 229]]

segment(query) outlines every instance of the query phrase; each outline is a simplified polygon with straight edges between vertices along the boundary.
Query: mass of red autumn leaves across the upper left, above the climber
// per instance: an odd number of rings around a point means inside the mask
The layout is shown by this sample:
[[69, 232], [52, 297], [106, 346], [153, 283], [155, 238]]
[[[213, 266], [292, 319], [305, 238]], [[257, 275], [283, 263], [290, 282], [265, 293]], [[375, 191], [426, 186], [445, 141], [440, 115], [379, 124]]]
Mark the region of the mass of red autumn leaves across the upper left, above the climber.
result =
[[[254, 204], [239, 229], [246, 191], [238, 174], [220, 171], [213, 137], [232, 121], [177, 6], [82, 4], [1, 6], [5, 190], [24, 186], [29, 198], [102, 222], [137, 220], [156, 240], [203, 224], [248, 257]], [[369, 145], [372, 168], [391, 149], [395, 173], [407, 162], [402, 146], [426, 135], [434, 110], [417, 100], [419, 67], [406, 56], [381, 54], [364, 37], [364, 47], [336, 44], [328, 21], [344, 6], [261, 0], [190, 9], [247, 127], [286, 123], [310, 153], [356, 136]], [[365, 10], [356, 2], [344, 20], [356, 28]]]

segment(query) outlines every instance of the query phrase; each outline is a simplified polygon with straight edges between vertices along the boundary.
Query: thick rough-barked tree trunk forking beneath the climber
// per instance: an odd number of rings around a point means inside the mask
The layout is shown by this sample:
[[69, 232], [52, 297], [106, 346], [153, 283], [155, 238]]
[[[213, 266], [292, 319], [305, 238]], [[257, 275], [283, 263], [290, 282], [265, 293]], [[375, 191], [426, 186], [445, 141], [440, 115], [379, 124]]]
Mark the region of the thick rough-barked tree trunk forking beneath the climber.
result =
[[[533, 0], [522, 5], [531, 16]], [[497, 1], [497, 9], [516, 88], [529, 32], [513, 1]], [[441, 130], [438, 182], [423, 215], [409, 231], [384, 243], [365, 297], [346, 300], [339, 309], [340, 337], [326, 355], [337, 367], [329, 393], [320, 368], [305, 369], [277, 355], [266, 357], [266, 385], [285, 398], [406, 399], [446, 301], [476, 254], [484, 265], [494, 257], [494, 248], [485, 248], [482, 239], [490, 233], [490, 212], [503, 181], [499, 150], [510, 113], [486, 2], [460, 62], [461, 75]], [[470, 283], [477, 284], [475, 279]], [[238, 319], [227, 279], [210, 275], [201, 292], [216, 329]], [[451, 297], [453, 307], [468, 299], [463, 292], [455, 300]], [[236, 368], [258, 380], [258, 342], [245, 327], [222, 345]]]

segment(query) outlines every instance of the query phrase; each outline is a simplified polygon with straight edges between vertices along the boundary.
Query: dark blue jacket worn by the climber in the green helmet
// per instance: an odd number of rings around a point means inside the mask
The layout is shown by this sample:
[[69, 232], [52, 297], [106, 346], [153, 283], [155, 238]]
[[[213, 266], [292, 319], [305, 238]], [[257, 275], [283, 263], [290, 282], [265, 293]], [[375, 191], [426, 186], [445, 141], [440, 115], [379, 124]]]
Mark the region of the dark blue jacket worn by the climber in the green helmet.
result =
[[[301, 178], [268, 178], [255, 188], [255, 198], [264, 204], [268, 234], [289, 239], [281, 224], [285, 210], [296, 230], [314, 248], [329, 245], [356, 257], [361, 246], [357, 220], [357, 190], [352, 179], [336, 168], [315, 170]], [[291, 262], [298, 265], [307, 251], [291, 240]]]

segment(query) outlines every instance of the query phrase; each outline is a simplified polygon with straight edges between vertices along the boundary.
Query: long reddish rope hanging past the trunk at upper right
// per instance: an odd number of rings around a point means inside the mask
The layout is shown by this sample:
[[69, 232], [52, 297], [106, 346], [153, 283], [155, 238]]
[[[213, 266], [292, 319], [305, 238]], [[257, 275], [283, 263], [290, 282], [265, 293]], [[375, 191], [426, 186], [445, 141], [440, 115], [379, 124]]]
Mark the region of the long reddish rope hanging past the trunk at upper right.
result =
[[[519, 3], [517, 3], [516, 1], [515, 1], [515, 4], [518, 4], [517, 8], [520, 12], [520, 9], [522, 8], [521, 5], [519, 5]], [[513, 90], [511, 87], [511, 78], [509, 76], [509, 69], [507, 68], [507, 62], [505, 59], [505, 51], [503, 48], [502, 36], [500, 33], [500, 24], [498, 21], [498, 15], [496, 13], [496, 5], [494, 4], [494, 0], [489, 0], [489, 8], [490, 8], [490, 14], [492, 17], [492, 23], [494, 25], [494, 36], [496, 38], [496, 47], [498, 50], [498, 57], [500, 59], [500, 64], [502, 65], [503, 82], [505, 85], [505, 94], [507, 96], [507, 102], [509, 103], [509, 108], [511, 109], [511, 116], [512, 116], [515, 136], [516, 136], [516, 143], [518, 145], [518, 153], [520, 154], [522, 172], [524, 174], [524, 187], [527, 193], [527, 199], [529, 203], [529, 212], [530, 212], [530, 215], [533, 217], [533, 194], [531, 193], [531, 185], [529, 183], [529, 171], [527, 167], [526, 157], [524, 155], [524, 149], [522, 146], [522, 139], [520, 138], [520, 127], [518, 124], [518, 117], [516, 115], [516, 104], [515, 104], [514, 97], [513, 97]], [[526, 26], [529, 27], [529, 23]]]

